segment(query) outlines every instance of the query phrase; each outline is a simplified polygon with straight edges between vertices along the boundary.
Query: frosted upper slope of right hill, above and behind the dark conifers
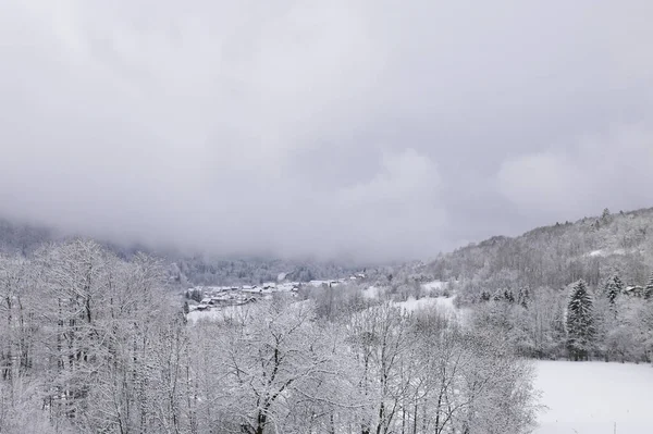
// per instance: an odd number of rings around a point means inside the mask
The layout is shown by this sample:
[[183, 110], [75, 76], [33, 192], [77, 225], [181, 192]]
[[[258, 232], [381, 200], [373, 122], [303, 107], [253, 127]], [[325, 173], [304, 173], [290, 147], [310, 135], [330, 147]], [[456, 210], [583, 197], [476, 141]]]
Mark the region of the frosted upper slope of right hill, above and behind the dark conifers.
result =
[[627, 285], [645, 285], [653, 270], [653, 208], [556, 223], [521, 236], [496, 236], [424, 265], [435, 278], [465, 282], [463, 301], [481, 292], [562, 288], [580, 278], [601, 285], [618, 272]]

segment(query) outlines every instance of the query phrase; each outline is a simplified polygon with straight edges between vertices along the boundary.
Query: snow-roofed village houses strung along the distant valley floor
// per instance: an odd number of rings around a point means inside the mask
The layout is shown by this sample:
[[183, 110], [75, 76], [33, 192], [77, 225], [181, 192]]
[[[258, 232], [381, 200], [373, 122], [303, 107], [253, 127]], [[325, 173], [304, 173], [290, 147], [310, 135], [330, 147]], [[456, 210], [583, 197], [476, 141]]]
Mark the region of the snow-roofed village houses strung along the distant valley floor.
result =
[[260, 299], [269, 299], [274, 293], [286, 293], [293, 297], [303, 287], [336, 287], [347, 281], [362, 281], [365, 273], [356, 273], [346, 278], [326, 281], [289, 282], [286, 274], [281, 273], [276, 282], [264, 282], [258, 285], [232, 285], [232, 286], [195, 286], [186, 289], [188, 311], [207, 311], [221, 309], [230, 306], [243, 306], [256, 302]]

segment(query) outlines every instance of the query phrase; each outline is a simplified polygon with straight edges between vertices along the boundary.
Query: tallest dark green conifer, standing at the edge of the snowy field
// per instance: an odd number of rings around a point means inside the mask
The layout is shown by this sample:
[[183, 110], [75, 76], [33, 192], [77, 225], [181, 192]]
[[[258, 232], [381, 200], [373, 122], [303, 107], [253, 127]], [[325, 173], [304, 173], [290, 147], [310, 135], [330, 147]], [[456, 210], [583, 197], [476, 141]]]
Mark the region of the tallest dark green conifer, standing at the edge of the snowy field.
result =
[[588, 286], [580, 280], [571, 288], [567, 306], [567, 348], [576, 361], [588, 360], [594, 340], [592, 299]]

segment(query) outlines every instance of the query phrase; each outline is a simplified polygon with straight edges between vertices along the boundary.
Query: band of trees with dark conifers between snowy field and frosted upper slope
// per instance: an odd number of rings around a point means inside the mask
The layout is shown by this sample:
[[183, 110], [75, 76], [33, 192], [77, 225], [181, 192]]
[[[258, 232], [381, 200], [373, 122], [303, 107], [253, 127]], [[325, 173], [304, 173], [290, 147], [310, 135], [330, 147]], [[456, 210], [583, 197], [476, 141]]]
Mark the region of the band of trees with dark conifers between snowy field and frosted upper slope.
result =
[[600, 286], [483, 292], [471, 312], [525, 357], [653, 361], [653, 274], [645, 287], [626, 287], [615, 273]]

